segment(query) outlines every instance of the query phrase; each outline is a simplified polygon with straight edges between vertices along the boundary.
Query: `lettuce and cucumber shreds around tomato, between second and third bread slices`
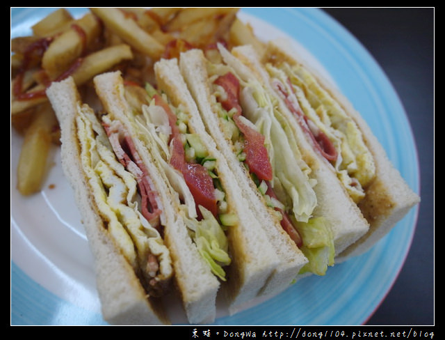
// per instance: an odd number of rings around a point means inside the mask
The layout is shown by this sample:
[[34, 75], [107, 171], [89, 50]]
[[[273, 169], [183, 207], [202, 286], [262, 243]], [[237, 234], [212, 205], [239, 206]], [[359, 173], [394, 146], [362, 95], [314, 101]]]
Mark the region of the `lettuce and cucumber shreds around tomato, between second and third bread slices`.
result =
[[[223, 267], [231, 262], [229, 256], [229, 242], [225, 230], [229, 225], [236, 222], [231, 218], [230, 212], [227, 210], [227, 202], [225, 201], [225, 192], [221, 187], [216, 173], [216, 159], [209, 157], [206, 146], [201, 141], [199, 135], [188, 132], [188, 115], [180, 108], [172, 107], [172, 112], [177, 116], [177, 126], [183, 138], [186, 160], [199, 162], [209, 171], [215, 185], [215, 194], [218, 201], [218, 217], [224, 215], [224, 219], [228, 222], [226, 225], [220, 224], [209, 210], [199, 206], [202, 219], [197, 219], [197, 208], [195, 199], [191, 194], [184, 176], [179, 171], [170, 166], [170, 148], [168, 141], [172, 130], [168, 121], [168, 116], [162, 107], [156, 106], [153, 96], [161, 94], [156, 89], [147, 84], [147, 103], [141, 103], [142, 109], [133, 110], [136, 112], [132, 117], [133, 125], [138, 131], [140, 139], [150, 147], [150, 152], [163, 168], [163, 176], [166, 176], [166, 183], [170, 183], [171, 187], [179, 194], [181, 206], [179, 213], [184, 219], [191, 238], [195, 243], [198, 252], [209, 265], [211, 272], [225, 281], [225, 270]], [[164, 96], [164, 100], [168, 102]], [[137, 112], [140, 112], [138, 114]]]

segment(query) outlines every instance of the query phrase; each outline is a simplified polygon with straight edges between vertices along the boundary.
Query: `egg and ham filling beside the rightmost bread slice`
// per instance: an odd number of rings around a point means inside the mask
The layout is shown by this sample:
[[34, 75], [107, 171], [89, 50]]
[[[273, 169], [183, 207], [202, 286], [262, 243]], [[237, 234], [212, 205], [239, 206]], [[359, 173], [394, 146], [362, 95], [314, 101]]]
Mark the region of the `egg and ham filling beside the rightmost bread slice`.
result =
[[355, 121], [302, 65], [267, 63], [266, 70], [314, 148], [332, 164], [351, 199], [359, 203], [375, 178], [375, 163]]

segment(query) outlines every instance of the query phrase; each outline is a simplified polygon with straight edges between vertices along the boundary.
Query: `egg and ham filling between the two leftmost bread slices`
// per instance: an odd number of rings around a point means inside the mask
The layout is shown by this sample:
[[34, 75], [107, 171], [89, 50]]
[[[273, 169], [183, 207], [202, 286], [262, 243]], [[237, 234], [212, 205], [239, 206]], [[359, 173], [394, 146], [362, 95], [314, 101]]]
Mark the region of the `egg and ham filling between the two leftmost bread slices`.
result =
[[103, 117], [108, 139], [90, 107], [79, 105], [77, 111], [81, 164], [106, 229], [148, 295], [161, 296], [173, 274], [172, 261], [161, 237], [162, 204], [149, 173], [134, 148], [122, 148], [131, 139], [119, 124]]

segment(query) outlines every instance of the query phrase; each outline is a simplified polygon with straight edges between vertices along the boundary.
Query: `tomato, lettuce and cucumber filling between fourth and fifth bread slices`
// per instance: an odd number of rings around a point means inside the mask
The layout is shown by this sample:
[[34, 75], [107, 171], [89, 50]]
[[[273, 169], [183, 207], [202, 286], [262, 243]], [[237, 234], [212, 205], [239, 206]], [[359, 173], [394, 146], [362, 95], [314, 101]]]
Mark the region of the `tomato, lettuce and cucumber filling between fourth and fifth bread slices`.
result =
[[[224, 56], [223, 56], [224, 58]], [[281, 226], [308, 258], [301, 273], [324, 275], [334, 264], [334, 237], [323, 217], [314, 217], [316, 180], [296, 144], [286, 137], [284, 121], [275, 118], [275, 98], [253, 77], [231, 65], [208, 63], [213, 111]]]

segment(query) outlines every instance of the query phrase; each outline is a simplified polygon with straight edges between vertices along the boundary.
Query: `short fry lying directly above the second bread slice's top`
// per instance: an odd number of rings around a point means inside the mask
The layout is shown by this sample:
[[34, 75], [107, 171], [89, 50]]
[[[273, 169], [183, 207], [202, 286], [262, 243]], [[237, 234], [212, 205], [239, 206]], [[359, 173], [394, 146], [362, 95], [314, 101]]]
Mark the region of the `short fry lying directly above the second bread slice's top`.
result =
[[100, 49], [86, 56], [79, 68], [72, 73], [77, 86], [81, 86], [92, 79], [95, 75], [109, 70], [114, 65], [124, 60], [133, 58], [129, 45], [121, 44]]

